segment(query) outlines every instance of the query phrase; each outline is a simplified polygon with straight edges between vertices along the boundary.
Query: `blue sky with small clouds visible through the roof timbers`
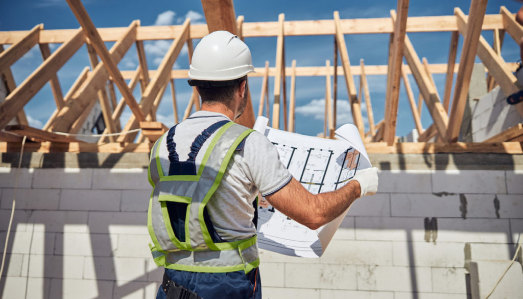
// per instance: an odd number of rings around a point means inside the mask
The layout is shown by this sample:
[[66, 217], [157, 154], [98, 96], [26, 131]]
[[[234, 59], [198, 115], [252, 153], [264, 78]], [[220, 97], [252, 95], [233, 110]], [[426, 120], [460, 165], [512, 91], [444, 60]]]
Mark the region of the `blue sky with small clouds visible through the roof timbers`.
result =
[[[132, 20], [140, 19], [141, 26], [151, 25], [176, 25], [181, 24], [186, 17], [191, 17], [192, 23], [204, 23], [203, 10], [200, 1], [114, 1], [114, 0], [86, 0], [83, 1], [87, 12], [97, 27], [124, 27]], [[334, 10], [338, 10], [341, 18], [372, 18], [390, 17], [390, 9], [396, 8], [395, 1], [368, 0], [368, 1], [235, 1], [236, 15], [243, 15], [245, 22], [251, 21], [277, 21], [278, 14], [284, 13], [286, 20], [312, 20], [332, 19]], [[453, 8], [460, 7], [468, 14], [469, 1], [410, 1], [408, 16], [437, 16], [453, 15]], [[510, 12], [517, 12], [521, 3], [517, 1], [489, 1], [486, 13], [499, 13], [499, 6], [505, 5]], [[45, 29], [70, 29], [78, 28], [79, 24], [67, 6], [65, 0], [18, 0], [0, 2], [0, 11], [3, 12], [0, 19], [0, 30], [29, 30], [37, 24], [43, 23]], [[492, 43], [492, 31], [483, 31], [485, 39]], [[420, 58], [426, 57], [429, 63], [447, 63], [448, 48], [450, 41], [449, 32], [409, 34], [414, 48]], [[388, 34], [375, 35], [346, 35], [348, 53], [351, 65], [359, 65], [359, 60], [364, 59], [366, 65], [386, 64], [388, 52]], [[458, 56], [461, 52], [460, 47]], [[156, 69], [161, 57], [166, 52], [171, 41], [152, 41], [145, 43], [147, 63], [150, 69]], [[194, 41], [195, 45], [197, 40]], [[247, 38], [247, 45], [251, 48], [253, 63], [255, 67], [264, 67], [268, 60], [274, 67], [276, 60], [276, 38]], [[108, 42], [110, 48], [112, 43]], [[51, 45], [51, 49], [58, 45]], [[287, 37], [286, 38], [286, 64], [290, 67], [293, 59], [297, 60], [298, 67], [325, 65], [325, 60], [331, 60], [333, 64], [333, 37]], [[510, 38], [505, 35], [502, 56], [507, 62], [515, 62], [519, 59], [519, 49]], [[42, 62], [38, 46], [29, 51], [22, 59], [12, 66], [12, 71], [17, 84], [20, 84], [38, 65]], [[476, 59], [479, 62], [479, 59]], [[339, 62], [338, 62], [339, 64]], [[62, 93], [65, 94], [82, 69], [89, 65], [87, 51], [82, 47], [73, 58], [67, 62], [58, 72]], [[138, 65], [138, 58], [134, 46], [119, 64], [121, 70], [134, 70]], [[340, 64], [339, 64], [340, 65]], [[178, 57], [175, 69], [187, 69], [187, 52], [182, 51]], [[444, 92], [445, 75], [436, 74], [434, 79], [440, 97]], [[359, 77], [355, 76], [358, 87]], [[382, 75], [368, 76], [371, 102], [374, 120], [378, 122], [384, 115], [384, 97], [386, 77]], [[418, 90], [414, 79], [410, 77], [414, 94], [417, 98]], [[290, 77], [287, 80], [287, 88], [290, 87]], [[297, 78], [297, 114], [296, 128], [301, 134], [316, 135], [323, 130], [325, 77], [298, 77]], [[338, 123], [351, 123], [350, 108], [347, 101], [347, 90], [343, 77], [338, 78]], [[176, 97], [178, 103], [178, 115], [181, 117], [188, 103], [191, 89], [185, 80], [176, 80]], [[255, 115], [257, 114], [261, 78], [249, 80]], [[269, 81], [270, 101], [274, 81]], [[289, 95], [289, 91], [287, 93]], [[139, 101], [139, 88], [136, 88], [134, 96]], [[120, 94], [117, 91], [117, 97]], [[366, 119], [365, 105], [362, 105], [363, 116]], [[48, 117], [55, 109], [51, 88], [46, 84], [42, 90], [31, 99], [25, 106], [26, 114], [32, 126], [42, 127]], [[166, 125], [174, 124], [172, 101], [170, 92], [167, 90], [160, 108], [158, 109], [158, 120]], [[121, 122], [126, 123], [130, 116], [130, 110], [126, 110]], [[408, 134], [414, 128], [412, 113], [403, 88], [400, 94], [400, 107], [398, 115], [396, 135]], [[431, 123], [428, 110], [424, 108], [422, 114], [423, 127], [427, 128]]]

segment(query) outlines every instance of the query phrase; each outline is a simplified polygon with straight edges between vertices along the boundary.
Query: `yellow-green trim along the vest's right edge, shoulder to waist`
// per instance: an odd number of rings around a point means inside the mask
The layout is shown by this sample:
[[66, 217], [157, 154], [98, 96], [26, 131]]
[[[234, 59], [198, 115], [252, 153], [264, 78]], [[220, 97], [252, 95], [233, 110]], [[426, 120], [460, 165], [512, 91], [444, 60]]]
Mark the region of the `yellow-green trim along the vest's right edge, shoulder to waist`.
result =
[[[232, 123], [232, 124], [234, 124], [234, 123]], [[229, 124], [226, 124], [225, 126], [227, 126], [227, 125], [229, 125]], [[200, 203], [200, 206], [198, 207], [198, 219], [200, 221], [200, 227], [201, 227], [202, 234], [203, 234], [203, 240], [205, 241], [205, 243], [211, 250], [220, 250], [220, 248], [218, 248], [218, 246], [216, 246], [211, 239], [209, 230], [207, 229], [207, 226], [205, 225], [205, 221], [203, 219], [203, 209], [205, 208], [206, 204], [209, 202], [212, 194], [216, 191], [216, 189], [218, 189], [218, 186], [220, 185], [223, 174], [225, 173], [225, 169], [227, 168], [227, 165], [229, 164], [229, 160], [231, 160], [232, 154], [236, 150], [236, 147], [240, 144], [240, 142], [242, 142], [242, 140], [245, 138], [245, 136], [251, 134], [251, 132], [253, 132], [253, 131], [254, 131], [253, 129], [245, 130], [244, 132], [242, 132], [242, 134], [240, 134], [240, 136], [238, 136], [236, 138], [236, 140], [234, 140], [234, 142], [232, 143], [232, 146], [229, 148], [229, 150], [225, 154], [225, 157], [223, 158], [222, 164], [220, 165], [220, 169], [218, 170], [218, 174], [216, 175], [216, 179], [214, 179], [214, 183], [212, 184], [212, 186], [209, 189], [209, 192], [207, 192], [207, 194], [203, 198], [203, 201]]]

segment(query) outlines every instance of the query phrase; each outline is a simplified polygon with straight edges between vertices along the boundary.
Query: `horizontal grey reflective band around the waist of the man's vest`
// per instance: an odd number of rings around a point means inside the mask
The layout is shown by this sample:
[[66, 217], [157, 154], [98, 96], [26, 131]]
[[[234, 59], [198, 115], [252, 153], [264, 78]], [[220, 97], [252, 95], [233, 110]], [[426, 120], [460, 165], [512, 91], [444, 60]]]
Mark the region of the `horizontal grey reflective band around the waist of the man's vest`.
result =
[[[243, 256], [243, 259], [242, 259]], [[238, 249], [222, 251], [176, 251], [165, 253], [165, 262], [169, 264], [197, 267], [230, 267], [248, 264], [258, 259], [258, 245], [248, 247], [240, 254]]]

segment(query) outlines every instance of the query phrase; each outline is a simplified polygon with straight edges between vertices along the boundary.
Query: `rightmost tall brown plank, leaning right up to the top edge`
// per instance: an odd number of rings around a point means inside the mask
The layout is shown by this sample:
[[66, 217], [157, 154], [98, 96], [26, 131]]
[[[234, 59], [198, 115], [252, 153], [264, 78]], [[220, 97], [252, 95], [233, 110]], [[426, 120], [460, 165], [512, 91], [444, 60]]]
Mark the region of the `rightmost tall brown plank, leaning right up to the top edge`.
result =
[[[449, 127], [445, 136], [445, 141], [458, 141], [463, 112], [467, 104], [469, 94], [470, 78], [472, 76], [472, 67], [476, 57], [477, 47], [481, 37], [481, 24], [485, 16], [487, 0], [472, 0], [470, 3], [469, 17], [467, 28], [463, 26], [459, 29], [460, 34], [464, 36], [463, 46], [461, 49], [460, 68], [456, 77], [456, 87], [454, 87], [454, 97], [452, 99], [452, 108], [450, 109]], [[463, 15], [459, 8], [454, 8], [454, 15], [459, 18]], [[462, 22], [463, 23], [463, 22]], [[465, 31], [468, 32], [465, 34]]]

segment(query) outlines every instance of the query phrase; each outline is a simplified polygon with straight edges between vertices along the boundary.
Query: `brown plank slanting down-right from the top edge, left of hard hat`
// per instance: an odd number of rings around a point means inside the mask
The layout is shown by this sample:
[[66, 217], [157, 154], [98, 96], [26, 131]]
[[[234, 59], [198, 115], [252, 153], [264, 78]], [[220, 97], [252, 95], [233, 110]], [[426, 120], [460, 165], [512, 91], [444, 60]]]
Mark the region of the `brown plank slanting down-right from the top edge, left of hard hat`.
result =
[[[142, 112], [142, 109], [134, 99], [129, 88], [127, 88], [127, 83], [123, 79], [120, 70], [118, 69], [117, 62], [114, 61], [111, 57], [111, 54], [105, 47], [104, 41], [101, 39], [98, 30], [96, 30], [93, 21], [87, 14], [84, 5], [80, 0], [66, 0], [67, 4], [73, 11], [78, 23], [84, 28], [86, 36], [89, 38], [93, 47], [100, 56], [100, 60], [104, 62], [104, 66], [112, 77], [112, 80], [116, 83], [116, 86], [120, 90], [120, 93], [123, 95], [123, 98], [126, 99], [127, 106], [131, 109], [132, 113], [136, 116], [138, 120], [145, 120], [145, 115]], [[104, 108], [102, 108], [104, 110]], [[105, 115], [105, 114], [104, 114]], [[109, 120], [109, 119], [108, 119]], [[109, 120], [111, 124], [112, 120]], [[107, 124], [107, 123], [106, 123]], [[112, 129], [112, 127], [111, 127]]]

